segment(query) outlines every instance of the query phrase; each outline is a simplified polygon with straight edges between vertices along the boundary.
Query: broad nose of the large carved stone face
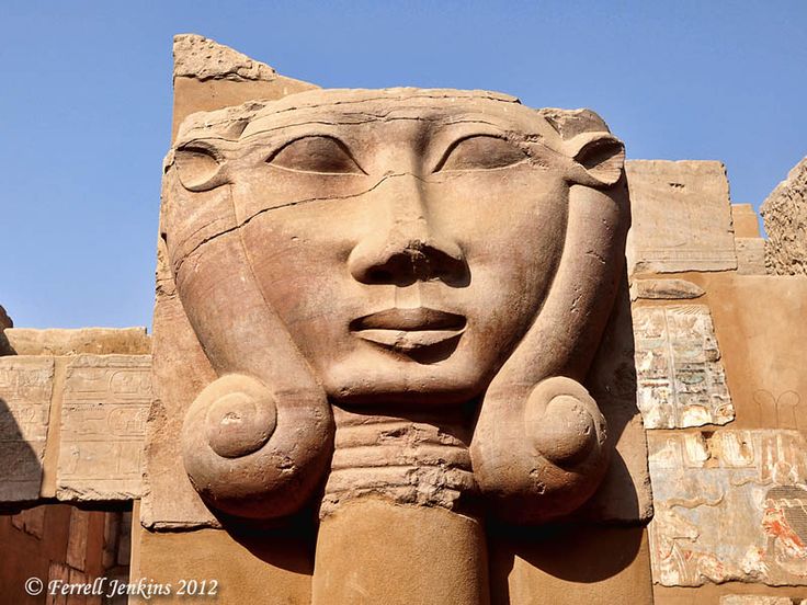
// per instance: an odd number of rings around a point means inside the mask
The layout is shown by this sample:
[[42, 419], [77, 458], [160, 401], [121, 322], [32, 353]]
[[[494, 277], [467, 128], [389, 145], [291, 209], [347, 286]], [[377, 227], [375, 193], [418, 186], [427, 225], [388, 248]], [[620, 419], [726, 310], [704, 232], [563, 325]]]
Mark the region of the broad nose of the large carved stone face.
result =
[[459, 246], [431, 225], [420, 182], [411, 175], [390, 178], [379, 187], [386, 224], [367, 233], [353, 249], [348, 265], [363, 284], [408, 286], [441, 279], [448, 285], [469, 282]]

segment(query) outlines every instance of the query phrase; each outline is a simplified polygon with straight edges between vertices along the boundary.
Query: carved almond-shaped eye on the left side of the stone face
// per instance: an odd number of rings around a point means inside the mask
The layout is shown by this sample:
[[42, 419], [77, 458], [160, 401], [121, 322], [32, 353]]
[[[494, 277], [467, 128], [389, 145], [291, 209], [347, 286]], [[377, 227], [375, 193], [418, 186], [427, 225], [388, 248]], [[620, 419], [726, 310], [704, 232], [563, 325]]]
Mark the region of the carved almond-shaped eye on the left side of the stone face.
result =
[[275, 151], [266, 162], [297, 172], [366, 174], [341, 140], [326, 136], [295, 139]]

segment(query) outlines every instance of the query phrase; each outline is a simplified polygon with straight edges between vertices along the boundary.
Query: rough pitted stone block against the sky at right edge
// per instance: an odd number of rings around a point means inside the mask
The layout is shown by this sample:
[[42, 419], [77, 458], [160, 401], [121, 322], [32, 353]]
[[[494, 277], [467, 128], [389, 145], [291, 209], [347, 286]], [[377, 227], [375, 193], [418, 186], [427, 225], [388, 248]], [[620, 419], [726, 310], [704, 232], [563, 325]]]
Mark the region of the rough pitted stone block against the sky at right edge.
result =
[[765, 266], [776, 275], [807, 274], [807, 158], [760, 207], [768, 242]]

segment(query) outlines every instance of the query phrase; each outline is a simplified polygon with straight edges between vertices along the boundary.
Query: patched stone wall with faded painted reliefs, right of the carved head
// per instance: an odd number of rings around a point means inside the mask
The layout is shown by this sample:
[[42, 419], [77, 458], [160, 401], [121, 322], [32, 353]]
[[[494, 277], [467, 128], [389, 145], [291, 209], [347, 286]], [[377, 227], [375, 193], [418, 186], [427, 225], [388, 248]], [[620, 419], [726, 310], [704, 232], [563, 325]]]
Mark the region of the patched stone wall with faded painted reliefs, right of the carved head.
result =
[[[750, 206], [723, 196], [711, 202], [711, 220], [703, 206], [678, 214], [679, 190], [698, 172], [697, 162], [677, 164], [691, 175], [632, 173], [634, 258], [648, 258], [640, 232], [673, 250], [635, 263], [632, 276], [655, 602], [798, 602], [807, 597], [807, 328], [796, 318], [807, 310], [807, 279], [763, 275]], [[669, 183], [663, 196], [636, 182], [652, 178]], [[697, 193], [692, 199], [700, 204]], [[669, 216], [668, 227], [645, 231]], [[701, 259], [682, 252], [692, 242]]]

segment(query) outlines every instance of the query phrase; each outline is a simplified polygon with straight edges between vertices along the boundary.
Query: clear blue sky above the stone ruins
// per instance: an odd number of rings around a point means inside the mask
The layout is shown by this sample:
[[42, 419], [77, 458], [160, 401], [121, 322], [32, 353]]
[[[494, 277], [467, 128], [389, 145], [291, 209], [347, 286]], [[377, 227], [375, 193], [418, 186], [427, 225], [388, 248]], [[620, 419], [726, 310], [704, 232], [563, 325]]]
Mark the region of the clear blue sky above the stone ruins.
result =
[[591, 107], [630, 158], [721, 160], [758, 206], [807, 155], [805, 30], [806, 0], [0, 0], [0, 305], [150, 326], [175, 33], [322, 87]]

